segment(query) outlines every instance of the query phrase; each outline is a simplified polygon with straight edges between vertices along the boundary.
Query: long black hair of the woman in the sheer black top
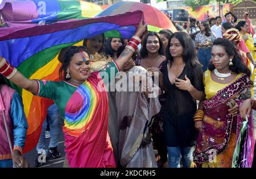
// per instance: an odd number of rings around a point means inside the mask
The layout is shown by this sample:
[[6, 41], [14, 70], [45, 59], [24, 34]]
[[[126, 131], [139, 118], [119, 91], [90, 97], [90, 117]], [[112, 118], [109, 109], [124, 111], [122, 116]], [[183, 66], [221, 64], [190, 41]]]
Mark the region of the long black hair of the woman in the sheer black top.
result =
[[[170, 39], [169, 39], [170, 43], [172, 38], [176, 38], [177, 40], [179, 40], [181, 46], [183, 47], [182, 59], [185, 65], [187, 65], [189, 69], [192, 69], [193, 66], [195, 65], [200, 65], [196, 57], [196, 49], [193, 46], [193, 41], [187, 33], [175, 32], [170, 36]], [[174, 57], [172, 57], [170, 53], [170, 43], [166, 48], [166, 57], [167, 57], [167, 60], [169, 60], [170, 63], [172, 64], [172, 62], [174, 61]]]

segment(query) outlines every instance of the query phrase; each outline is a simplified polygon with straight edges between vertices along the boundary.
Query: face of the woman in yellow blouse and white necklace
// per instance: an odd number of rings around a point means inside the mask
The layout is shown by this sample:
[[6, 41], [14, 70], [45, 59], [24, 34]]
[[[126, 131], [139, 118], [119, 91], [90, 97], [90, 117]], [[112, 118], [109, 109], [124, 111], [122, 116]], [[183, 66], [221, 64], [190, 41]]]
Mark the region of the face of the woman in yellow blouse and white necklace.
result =
[[213, 45], [212, 61], [217, 70], [229, 69], [229, 59], [233, 59], [233, 57], [228, 55], [223, 46]]

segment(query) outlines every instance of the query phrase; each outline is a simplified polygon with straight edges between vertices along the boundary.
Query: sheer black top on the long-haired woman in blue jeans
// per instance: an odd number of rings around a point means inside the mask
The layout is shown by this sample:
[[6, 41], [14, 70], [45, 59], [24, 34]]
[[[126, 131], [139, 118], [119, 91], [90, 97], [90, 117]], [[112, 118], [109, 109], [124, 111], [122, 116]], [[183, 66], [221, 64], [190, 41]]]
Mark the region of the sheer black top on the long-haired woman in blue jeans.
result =
[[[188, 91], [180, 90], [171, 84], [168, 77], [168, 61], [163, 64], [163, 82], [166, 87], [167, 95], [164, 102], [164, 137], [166, 145], [169, 147], [190, 147], [196, 138], [195, 124], [193, 115], [197, 109], [196, 100], [192, 98]], [[181, 72], [181, 80], [185, 80], [185, 74], [191, 84], [200, 91], [204, 91], [203, 71], [201, 66], [195, 65], [191, 70], [185, 65]]]

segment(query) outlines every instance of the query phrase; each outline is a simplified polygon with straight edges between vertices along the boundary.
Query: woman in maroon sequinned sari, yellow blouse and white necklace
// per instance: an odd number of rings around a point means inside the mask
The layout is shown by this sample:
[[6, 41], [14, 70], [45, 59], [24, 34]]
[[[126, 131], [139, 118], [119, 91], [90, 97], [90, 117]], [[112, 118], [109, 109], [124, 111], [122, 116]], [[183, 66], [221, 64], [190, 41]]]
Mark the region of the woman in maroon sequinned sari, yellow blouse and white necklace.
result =
[[[213, 42], [212, 60], [203, 78], [207, 99], [200, 103], [194, 118], [199, 135], [193, 157], [197, 166], [232, 167], [243, 122], [238, 108], [251, 97], [251, 73], [228, 39]], [[242, 142], [247, 150], [239, 153], [240, 167], [250, 167], [253, 160], [253, 120], [248, 121], [249, 135]]]

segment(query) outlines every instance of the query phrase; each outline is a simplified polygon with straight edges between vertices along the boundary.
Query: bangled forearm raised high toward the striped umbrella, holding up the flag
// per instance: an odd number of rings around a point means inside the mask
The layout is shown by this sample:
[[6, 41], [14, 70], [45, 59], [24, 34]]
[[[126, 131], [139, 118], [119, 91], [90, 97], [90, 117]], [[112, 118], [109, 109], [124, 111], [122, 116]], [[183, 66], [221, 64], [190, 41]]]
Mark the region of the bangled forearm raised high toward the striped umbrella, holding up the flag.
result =
[[115, 63], [118, 65], [119, 69], [123, 68], [123, 65], [133, 56], [135, 49], [138, 44], [141, 43], [141, 39], [139, 36], [142, 36], [143, 32], [146, 30], [147, 24], [142, 24], [142, 20], [139, 23], [139, 27], [137, 28], [137, 32], [134, 34], [133, 38], [126, 45], [126, 48], [123, 50], [121, 55], [115, 60]]

